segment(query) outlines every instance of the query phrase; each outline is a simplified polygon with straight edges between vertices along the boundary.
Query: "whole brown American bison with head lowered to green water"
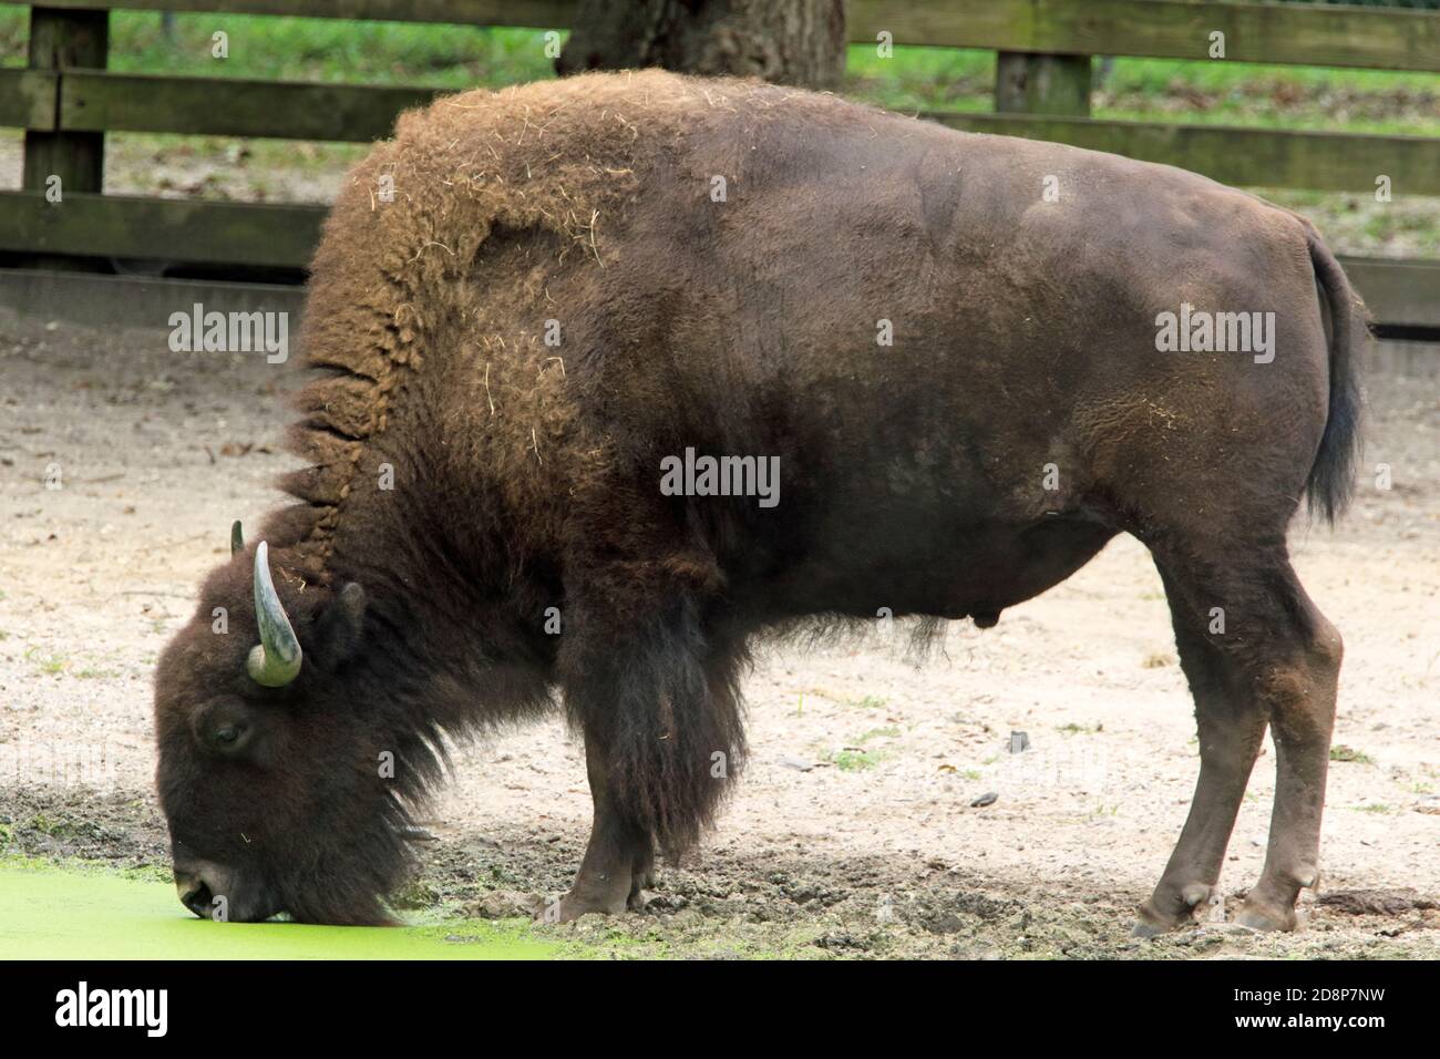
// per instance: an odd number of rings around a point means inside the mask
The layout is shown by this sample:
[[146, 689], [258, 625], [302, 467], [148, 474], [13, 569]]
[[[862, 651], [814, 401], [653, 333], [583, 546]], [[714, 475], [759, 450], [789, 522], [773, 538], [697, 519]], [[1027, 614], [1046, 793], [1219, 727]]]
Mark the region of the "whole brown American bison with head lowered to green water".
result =
[[1308, 222], [1165, 166], [661, 72], [408, 114], [315, 255], [294, 503], [158, 666], [180, 896], [383, 921], [442, 739], [563, 707], [559, 911], [621, 912], [730, 790], [753, 638], [994, 624], [1130, 533], [1201, 758], [1139, 929], [1210, 896], [1267, 725], [1240, 919], [1292, 928], [1341, 637], [1286, 527], [1346, 500], [1365, 336]]

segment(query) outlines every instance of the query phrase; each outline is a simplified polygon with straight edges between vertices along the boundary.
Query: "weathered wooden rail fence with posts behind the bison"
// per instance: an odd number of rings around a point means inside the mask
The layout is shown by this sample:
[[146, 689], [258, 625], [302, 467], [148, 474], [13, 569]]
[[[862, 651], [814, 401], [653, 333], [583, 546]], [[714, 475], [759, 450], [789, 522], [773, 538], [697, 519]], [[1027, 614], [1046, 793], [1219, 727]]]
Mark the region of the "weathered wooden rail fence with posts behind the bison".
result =
[[[45, 0], [29, 68], [0, 69], [0, 125], [23, 127], [20, 192], [0, 192], [0, 251], [304, 268], [324, 209], [101, 195], [107, 131], [370, 141], [451, 89], [111, 73], [108, 12], [445, 22], [563, 29], [573, 0]], [[1440, 12], [1192, 0], [851, 0], [850, 37], [998, 52], [995, 112], [926, 114], [956, 128], [1164, 161], [1238, 186], [1440, 196], [1440, 138], [1089, 117], [1090, 56], [1440, 72]], [[65, 209], [45, 199], [63, 182]], [[1440, 262], [1349, 258], [1377, 318], [1440, 329]]]

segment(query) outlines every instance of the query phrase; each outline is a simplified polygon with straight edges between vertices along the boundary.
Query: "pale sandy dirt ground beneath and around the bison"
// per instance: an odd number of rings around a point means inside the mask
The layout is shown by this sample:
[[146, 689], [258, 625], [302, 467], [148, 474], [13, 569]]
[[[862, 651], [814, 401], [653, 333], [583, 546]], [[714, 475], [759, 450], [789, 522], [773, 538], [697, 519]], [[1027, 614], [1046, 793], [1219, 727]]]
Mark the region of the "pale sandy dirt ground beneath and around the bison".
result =
[[[295, 380], [259, 354], [174, 354], [160, 331], [0, 317], [9, 853], [164, 864], [151, 670], [230, 520], [278, 500]], [[1128, 937], [1198, 768], [1159, 579], [1128, 537], [994, 630], [952, 624], [920, 666], [903, 628], [762, 653], [717, 833], [644, 913], [539, 929], [616, 955], [1440, 957], [1440, 379], [1375, 375], [1369, 402], [1352, 513], [1292, 536], [1348, 650], [1325, 875], [1296, 934]], [[1267, 742], [1221, 880], [1231, 913], [1272, 791]], [[566, 888], [588, 824], [559, 722], [458, 748], [406, 903], [513, 915]]]

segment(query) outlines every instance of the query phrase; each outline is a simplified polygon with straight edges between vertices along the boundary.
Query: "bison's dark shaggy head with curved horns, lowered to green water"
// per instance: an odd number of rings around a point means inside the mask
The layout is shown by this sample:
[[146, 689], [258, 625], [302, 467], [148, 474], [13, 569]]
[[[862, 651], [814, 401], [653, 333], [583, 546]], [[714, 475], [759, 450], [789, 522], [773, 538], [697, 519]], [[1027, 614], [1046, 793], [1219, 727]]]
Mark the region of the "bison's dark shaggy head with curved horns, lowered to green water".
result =
[[236, 524], [230, 563], [160, 658], [176, 886], [207, 918], [380, 922], [409, 857], [366, 594], [276, 573]]

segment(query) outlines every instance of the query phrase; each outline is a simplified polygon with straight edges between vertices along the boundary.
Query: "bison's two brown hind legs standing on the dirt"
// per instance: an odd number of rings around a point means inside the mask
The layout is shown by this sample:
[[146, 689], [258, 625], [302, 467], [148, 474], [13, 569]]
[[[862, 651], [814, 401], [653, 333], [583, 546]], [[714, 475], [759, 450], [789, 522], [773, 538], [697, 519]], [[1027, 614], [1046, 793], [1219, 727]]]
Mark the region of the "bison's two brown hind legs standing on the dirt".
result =
[[1300, 889], [1319, 876], [1339, 633], [1300, 586], [1283, 536], [1152, 550], [1195, 697], [1201, 765], [1185, 827], [1136, 932], [1182, 925], [1212, 898], [1267, 723], [1276, 746], [1270, 844], [1240, 922], [1292, 929]]

